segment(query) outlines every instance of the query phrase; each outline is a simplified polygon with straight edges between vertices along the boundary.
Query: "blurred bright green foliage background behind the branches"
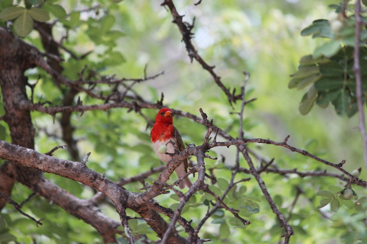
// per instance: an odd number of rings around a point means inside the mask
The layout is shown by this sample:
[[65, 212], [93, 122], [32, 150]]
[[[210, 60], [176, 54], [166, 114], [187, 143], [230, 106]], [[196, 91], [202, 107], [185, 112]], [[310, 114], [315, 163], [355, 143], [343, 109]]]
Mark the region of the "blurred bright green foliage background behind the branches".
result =
[[[239, 112], [240, 105], [237, 103], [232, 109], [225, 94], [215, 85], [208, 72], [196, 61], [190, 63], [185, 45], [181, 42], [181, 34], [172, 23], [170, 12], [160, 6], [160, 1], [124, 0], [118, 4], [102, 0], [50, 2], [60, 4], [66, 13], [74, 13], [75, 16], [75, 19], [65, 15], [57, 16], [60, 20], [54, 27], [55, 38], [59, 40], [65, 35], [65, 29], [69, 29], [68, 41], [64, 42], [66, 47], [78, 54], [93, 51], [83, 60], [74, 60], [63, 52], [66, 60], [62, 63], [63, 75], [69, 79], [77, 79], [83, 66], [88, 65], [88, 69], [97, 70], [103, 75], [140, 78], [145, 65], [148, 65], [148, 75], [160, 71], [164, 71], [164, 75], [133, 87], [143, 98], [155, 102], [160, 98], [160, 93], [164, 93], [165, 105], [197, 116], [200, 116], [199, 108], [203, 108], [215, 125], [233, 137], [237, 136], [239, 116], [231, 112]], [[246, 138], [283, 141], [290, 135], [288, 144], [294, 147], [305, 149], [333, 163], [346, 159], [344, 168], [349, 172], [363, 167], [357, 116], [351, 119], [339, 117], [332, 106], [326, 110], [315, 107], [307, 116], [301, 116], [298, 106], [305, 91], [289, 90], [287, 87], [290, 75], [297, 71], [299, 59], [312, 53], [317, 45], [323, 43], [323, 40], [301, 37], [301, 30], [315, 19], [328, 19], [332, 12], [328, 4], [337, 4], [335, 1], [203, 0], [197, 6], [194, 1], [187, 0], [174, 3], [179, 14], [185, 15], [184, 21], [192, 23], [193, 18], [196, 18], [193, 43], [203, 59], [216, 66], [214, 71], [221, 76], [225, 86], [232, 89], [236, 87], [239, 91], [244, 80], [242, 71], [250, 73], [246, 98], [257, 100], [247, 104], [245, 108]], [[101, 5], [98, 12], [78, 12], [96, 4]], [[57, 13], [59, 12], [56, 11], [56, 15]], [[55, 13], [51, 11], [50, 15], [51, 21], [55, 19]], [[0, 23], [5, 25], [4, 22]], [[42, 50], [36, 31], [25, 37], [25, 41]], [[48, 100], [54, 105], [59, 104], [61, 97], [58, 89], [43, 71], [29, 70], [30, 82], [35, 83], [39, 73], [42, 77], [36, 85], [34, 100]], [[109, 89], [110, 87], [105, 86], [105, 91]], [[81, 100], [83, 104], [96, 102], [84, 95]], [[4, 114], [3, 110], [0, 112]], [[153, 120], [157, 111], [143, 109], [142, 112]], [[59, 116], [56, 115], [56, 119]], [[51, 116], [33, 112], [32, 117], [37, 132], [37, 151], [46, 153], [52, 147], [63, 144], [59, 138], [59, 124], [52, 123]], [[79, 140], [81, 157], [91, 152], [88, 167], [105, 173], [114, 181], [161, 164], [150, 143], [150, 128], [147, 129], [146, 121], [134, 112], [111, 109], [106, 112], [89, 111], [83, 116], [74, 113], [72, 123], [76, 127], [75, 137]], [[206, 128], [202, 125], [177, 116], [174, 117], [174, 123], [185, 143], [203, 143]], [[0, 127], [1, 139], [9, 141], [9, 132], [4, 121], [0, 121]], [[266, 144], [248, 146], [263, 158], [275, 158], [274, 164], [281, 169], [335, 172], [320, 162], [281, 147]], [[218, 156], [218, 161], [206, 161], [207, 169], [216, 168], [214, 173], [220, 178], [219, 184], [214, 186], [217, 189], [212, 188], [219, 195], [230, 179], [230, 171], [222, 164], [223, 158], [226, 165], [233, 165], [235, 152], [234, 147], [215, 148], [210, 154]], [[58, 150], [54, 156], [70, 158], [66, 150]], [[191, 159], [195, 161], [195, 158]], [[253, 160], [258, 166], [258, 160]], [[243, 158], [240, 159], [240, 164], [247, 168]], [[362, 179], [365, 173], [362, 170]], [[90, 198], [94, 194], [90, 188], [75, 181], [52, 174], [48, 174], [48, 177], [79, 198]], [[156, 177], [157, 174], [149, 177], [148, 182], [151, 183]], [[237, 180], [246, 177], [249, 176], [242, 174]], [[262, 174], [262, 177], [277, 207], [290, 218], [289, 222], [295, 231], [291, 243], [351, 243], [350, 238], [354, 236], [347, 236], [348, 239], [345, 236], [350, 233], [348, 230], [360, 236], [366, 235], [363, 228], [356, 228], [356, 225], [361, 224], [361, 221], [356, 220], [360, 216], [353, 218], [355, 210], [349, 201], [343, 202], [338, 214], [332, 214], [327, 207], [316, 210], [320, 198], [315, 193], [319, 189], [335, 192], [344, 188], [344, 183], [328, 177], [302, 179], [292, 174], [284, 177], [269, 173]], [[124, 187], [137, 192], [142, 184], [133, 183]], [[292, 209], [292, 202], [299, 189], [302, 194]], [[362, 188], [354, 190], [361, 195], [365, 194]], [[29, 194], [31, 192], [26, 187], [16, 184], [12, 198], [22, 202]], [[207, 211], [208, 207], [203, 204], [205, 199], [213, 200], [206, 194], [196, 194], [189, 204], [189, 213], [185, 212], [188, 208], [184, 209], [183, 217], [193, 219], [194, 227]], [[172, 208], [178, 203], [173, 193], [161, 195], [156, 200], [161, 205]], [[277, 243], [281, 240], [283, 230], [254, 179], [239, 184], [226, 201], [230, 207], [247, 205], [258, 207], [260, 212], [252, 216], [252, 224], [244, 229], [235, 228], [240, 226], [238, 221], [229, 213], [218, 210], [201, 229], [201, 238], [210, 238], [211, 243]], [[119, 220], [114, 207], [108, 201], [101, 208], [111, 218]], [[102, 242], [98, 233], [89, 225], [42, 198], [33, 197], [23, 207], [23, 211], [37, 219], [44, 218], [43, 226], [36, 227], [32, 221], [17, 214], [12, 206], [7, 205], [1, 213], [6, 224], [0, 222], [0, 233], [1, 230], [7, 230], [4, 233], [15, 236], [18, 243], [31, 243], [33, 240], [35, 243], [65, 244]], [[246, 211], [247, 209], [241, 208], [240, 215], [250, 219], [251, 214]], [[128, 212], [128, 215], [134, 214], [132, 211]], [[156, 234], [145, 222], [132, 220], [129, 223], [134, 233], [144, 233], [151, 240], [157, 240]], [[185, 236], [182, 227], [179, 233]]]

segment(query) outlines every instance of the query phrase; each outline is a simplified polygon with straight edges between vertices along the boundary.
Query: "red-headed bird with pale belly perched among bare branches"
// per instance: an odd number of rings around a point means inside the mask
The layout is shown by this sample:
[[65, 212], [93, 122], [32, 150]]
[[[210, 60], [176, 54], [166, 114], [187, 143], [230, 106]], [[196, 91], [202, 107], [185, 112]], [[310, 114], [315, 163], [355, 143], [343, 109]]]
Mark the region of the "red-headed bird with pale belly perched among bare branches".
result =
[[[168, 163], [172, 159], [170, 155], [165, 154], [165, 150], [159, 150], [161, 146], [167, 146], [167, 153], [175, 153], [175, 148], [170, 141], [172, 140], [177, 144], [178, 150], [182, 151], [185, 149], [181, 135], [178, 130], [173, 126], [173, 115], [172, 110], [169, 108], [162, 108], [159, 110], [156, 116], [155, 123], [153, 125], [152, 131], [150, 132], [150, 139], [153, 143], [153, 148], [159, 159]], [[175, 169], [178, 179], [187, 173], [188, 159], [185, 158], [181, 164]], [[181, 189], [191, 187], [192, 183], [190, 179], [186, 176], [180, 183], [179, 187]]]

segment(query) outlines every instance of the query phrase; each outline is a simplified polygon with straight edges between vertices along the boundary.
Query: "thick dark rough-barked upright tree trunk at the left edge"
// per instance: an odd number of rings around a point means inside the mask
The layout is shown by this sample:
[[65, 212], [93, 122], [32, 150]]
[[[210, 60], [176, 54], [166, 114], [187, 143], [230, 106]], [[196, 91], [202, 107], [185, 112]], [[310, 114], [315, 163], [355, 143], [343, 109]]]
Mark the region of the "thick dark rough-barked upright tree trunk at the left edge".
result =
[[[30, 112], [19, 108], [21, 101], [28, 100], [24, 71], [32, 68], [33, 64], [27, 60], [30, 52], [28, 46], [21, 45], [17, 38], [12, 32], [0, 29], [0, 86], [5, 109], [4, 121], [8, 124], [13, 144], [34, 149], [34, 128]], [[7, 162], [0, 168], [0, 190], [10, 195], [14, 180], [36, 184], [42, 177], [43, 173], [38, 170]], [[2, 198], [0, 209], [4, 204]]]

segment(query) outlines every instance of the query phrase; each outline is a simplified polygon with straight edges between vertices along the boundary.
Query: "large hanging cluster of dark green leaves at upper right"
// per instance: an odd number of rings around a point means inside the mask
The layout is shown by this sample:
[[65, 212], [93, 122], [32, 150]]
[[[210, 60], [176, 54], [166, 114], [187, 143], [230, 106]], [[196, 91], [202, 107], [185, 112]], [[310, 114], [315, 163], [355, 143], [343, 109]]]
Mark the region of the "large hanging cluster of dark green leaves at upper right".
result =
[[[312, 35], [331, 39], [317, 47], [312, 55], [301, 58], [298, 71], [291, 75], [288, 88], [309, 90], [304, 94], [299, 105], [299, 112], [307, 115], [318, 105], [326, 108], [330, 103], [340, 116], [352, 117], [357, 112], [356, 81], [353, 70], [353, 50], [355, 45], [355, 17], [344, 17], [340, 5], [335, 8], [335, 15], [330, 20], [315, 20], [312, 25], [302, 30], [301, 35]], [[335, 24], [337, 23], [337, 24]], [[337, 25], [337, 26], [336, 26]], [[363, 92], [367, 92], [367, 30], [361, 30], [360, 67]]]

